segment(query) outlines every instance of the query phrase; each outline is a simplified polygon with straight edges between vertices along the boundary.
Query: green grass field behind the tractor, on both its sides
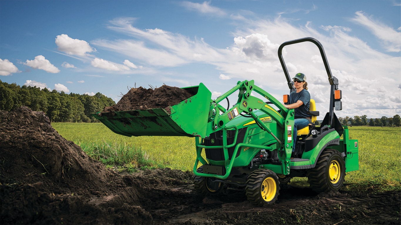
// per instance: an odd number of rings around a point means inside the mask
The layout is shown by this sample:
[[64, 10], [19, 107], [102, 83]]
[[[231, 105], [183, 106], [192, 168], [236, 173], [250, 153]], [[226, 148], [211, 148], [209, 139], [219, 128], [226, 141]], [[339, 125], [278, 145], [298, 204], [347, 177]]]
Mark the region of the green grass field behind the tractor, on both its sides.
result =
[[[126, 137], [102, 123], [52, 123], [67, 140], [108, 167], [170, 167], [192, 170], [196, 158], [194, 137]], [[401, 189], [400, 127], [349, 127], [350, 139], [359, 142], [359, 170], [346, 174], [344, 185], [352, 190]], [[306, 185], [305, 178], [292, 181]]]

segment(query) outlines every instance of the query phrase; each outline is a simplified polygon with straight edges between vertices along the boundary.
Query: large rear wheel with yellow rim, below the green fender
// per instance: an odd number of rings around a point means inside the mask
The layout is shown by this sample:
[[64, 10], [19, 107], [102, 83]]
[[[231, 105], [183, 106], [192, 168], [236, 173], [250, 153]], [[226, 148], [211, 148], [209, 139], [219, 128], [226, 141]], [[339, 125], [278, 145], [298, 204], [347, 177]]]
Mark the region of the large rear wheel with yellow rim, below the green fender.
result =
[[308, 173], [308, 183], [316, 192], [338, 191], [344, 183], [344, 159], [337, 150], [324, 149], [316, 166]]

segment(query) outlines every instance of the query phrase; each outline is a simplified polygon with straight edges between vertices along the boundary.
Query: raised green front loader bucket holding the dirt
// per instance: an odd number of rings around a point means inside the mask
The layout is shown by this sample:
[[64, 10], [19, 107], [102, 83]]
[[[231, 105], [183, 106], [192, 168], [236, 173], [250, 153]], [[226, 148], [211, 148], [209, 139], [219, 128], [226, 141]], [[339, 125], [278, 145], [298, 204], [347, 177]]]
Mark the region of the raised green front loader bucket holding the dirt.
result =
[[131, 136], [205, 137], [211, 92], [202, 83], [183, 88], [194, 96], [170, 106], [149, 110], [132, 110], [92, 114], [114, 133]]

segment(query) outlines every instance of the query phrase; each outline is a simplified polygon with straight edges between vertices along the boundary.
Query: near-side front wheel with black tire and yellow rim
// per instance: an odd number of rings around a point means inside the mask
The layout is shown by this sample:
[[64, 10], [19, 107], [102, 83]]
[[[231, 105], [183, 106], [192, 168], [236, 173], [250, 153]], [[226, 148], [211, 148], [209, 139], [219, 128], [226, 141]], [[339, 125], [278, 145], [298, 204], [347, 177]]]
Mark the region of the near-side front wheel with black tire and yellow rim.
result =
[[256, 206], [269, 205], [277, 200], [280, 190], [280, 181], [277, 175], [268, 169], [253, 171], [245, 186], [248, 201]]

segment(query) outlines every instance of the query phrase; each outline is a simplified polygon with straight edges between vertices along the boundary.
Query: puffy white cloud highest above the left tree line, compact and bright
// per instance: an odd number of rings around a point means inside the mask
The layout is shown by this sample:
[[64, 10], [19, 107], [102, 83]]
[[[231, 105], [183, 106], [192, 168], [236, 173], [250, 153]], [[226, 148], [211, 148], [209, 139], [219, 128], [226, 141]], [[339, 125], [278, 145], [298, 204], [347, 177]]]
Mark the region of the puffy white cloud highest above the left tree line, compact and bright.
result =
[[85, 56], [87, 52], [96, 52], [88, 42], [70, 38], [67, 34], [58, 35], [55, 42], [59, 51], [69, 55]]

